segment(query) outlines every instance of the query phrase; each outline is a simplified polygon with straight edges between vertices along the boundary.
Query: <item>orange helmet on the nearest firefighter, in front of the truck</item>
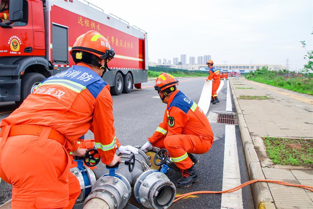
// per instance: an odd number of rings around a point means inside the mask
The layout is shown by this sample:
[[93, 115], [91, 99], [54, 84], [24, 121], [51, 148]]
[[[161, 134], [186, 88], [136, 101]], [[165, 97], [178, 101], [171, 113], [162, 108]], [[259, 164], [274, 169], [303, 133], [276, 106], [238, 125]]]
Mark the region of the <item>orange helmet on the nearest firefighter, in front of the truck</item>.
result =
[[[83, 61], [85, 63], [96, 65], [100, 67], [100, 69], [103, 69], [103, 72], [105, 71], [105, 68], [110, 70], [107, 63], [112, 60], [115, 55], [109, 41], [99, 32], [94, 30], [90, 30], [85, 34], [80, 35], [76, 39], [72, 50], [69, 53], [72, 55], [75, 62]], [[90, 54], [105, 60], [105, 65], [100, 65], [95, 60], [92, 60]]]

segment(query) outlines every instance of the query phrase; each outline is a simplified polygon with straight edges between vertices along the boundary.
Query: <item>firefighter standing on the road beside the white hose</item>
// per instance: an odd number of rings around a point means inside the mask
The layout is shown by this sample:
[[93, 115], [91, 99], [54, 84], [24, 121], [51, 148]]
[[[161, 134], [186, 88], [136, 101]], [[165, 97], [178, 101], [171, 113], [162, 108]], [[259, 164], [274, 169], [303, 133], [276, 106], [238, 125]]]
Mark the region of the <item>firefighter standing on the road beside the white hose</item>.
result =
[[212, 60], [207, 61], [207, 65], [210, 68], [210, 70], [209, 70], [210, 75], [208, 76], [206, 81], [210, 81], [213, 79], [211, 102], [213, 104], [215, 104], [215, 103], [219, 102], [216, 91], [218, 90], [218, 86], [221, 83], [221, 80], [220, 80], [220, 74], [221, 73], [219, 72], [219, 70], [217, 70], [215, 67], [213, 67], [213, 64], [214, 63]]

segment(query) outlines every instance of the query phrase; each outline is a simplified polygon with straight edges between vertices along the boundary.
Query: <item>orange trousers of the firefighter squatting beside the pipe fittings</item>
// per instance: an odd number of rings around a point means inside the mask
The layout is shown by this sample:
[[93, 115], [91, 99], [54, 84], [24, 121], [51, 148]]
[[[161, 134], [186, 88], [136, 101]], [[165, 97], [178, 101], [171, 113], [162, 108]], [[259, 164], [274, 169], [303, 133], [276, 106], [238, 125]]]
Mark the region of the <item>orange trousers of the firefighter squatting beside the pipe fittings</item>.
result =
[[160, 149], [167, 149], [169, 156], [177, 167], [186, 170], [193, 165], [192, 160], [188, 155], [185, 159], [182, 159], [179, 162], [175, 162], [173, 159], [186, 155], [187, 153], [204, 154], [209, 151], [212, 143], [213, 140], [204, 139], [202, 136], [177, 134], [171, 136], [165, 135], [163, 138], [153, 143], [152, 146]]

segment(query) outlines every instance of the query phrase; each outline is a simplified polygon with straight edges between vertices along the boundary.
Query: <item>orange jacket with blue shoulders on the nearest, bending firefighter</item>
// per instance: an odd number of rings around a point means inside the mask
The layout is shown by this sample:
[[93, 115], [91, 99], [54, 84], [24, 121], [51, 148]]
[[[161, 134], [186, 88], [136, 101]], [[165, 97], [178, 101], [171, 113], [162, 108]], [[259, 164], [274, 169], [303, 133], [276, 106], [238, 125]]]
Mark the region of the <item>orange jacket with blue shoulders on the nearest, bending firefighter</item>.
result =
[[77, 139], [90, 129], [104, 164], [110, 164], [120, 146], [113, 125], [110, 86], [88, 65], [79, 63], [39, 84], [0, 128], [33, 124], [53, 128], [66, 137], [65, 149], [78, 149]]

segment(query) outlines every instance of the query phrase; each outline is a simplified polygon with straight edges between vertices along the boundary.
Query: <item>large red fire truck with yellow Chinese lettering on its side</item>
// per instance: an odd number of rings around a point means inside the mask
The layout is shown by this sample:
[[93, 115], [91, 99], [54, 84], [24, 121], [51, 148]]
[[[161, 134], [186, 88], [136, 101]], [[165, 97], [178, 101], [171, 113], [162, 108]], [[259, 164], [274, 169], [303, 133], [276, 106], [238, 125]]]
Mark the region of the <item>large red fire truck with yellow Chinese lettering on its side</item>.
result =
[[103, 76], [112, 94], [147, 82], [147, 33], [136, 26], [84, 0], [0, 1], [9, 4], [0, 20], [0, 102], [21, 103], [38, 83], [74, 65], [71, 46], [89, 30], [115, 50]]

